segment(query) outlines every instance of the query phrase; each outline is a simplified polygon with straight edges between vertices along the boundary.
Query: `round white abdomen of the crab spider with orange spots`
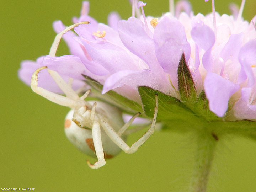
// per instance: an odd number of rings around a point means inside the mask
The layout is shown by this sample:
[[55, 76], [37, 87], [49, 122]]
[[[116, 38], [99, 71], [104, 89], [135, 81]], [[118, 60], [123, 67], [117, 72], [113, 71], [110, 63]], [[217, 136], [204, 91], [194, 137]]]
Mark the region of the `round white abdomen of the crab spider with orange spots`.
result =
[[[89, 101], [89, 103], [91, 103], [91, 101]], [[103, 109], [107, 111], [107, 113], [103, 111]], [[98, 112], [104, 114], [105, 117], [107, 117], [113, 129], [123, 140], [126, 140], [126, 132], [120, 129], [120, 127], [124, 125], [121, 111], [116, 107], [99, 101], [97, 101], [97, 110], [99, 110]], [[89, 112], [90, 110], [88, 109], [87, 111]], [[80, 151], [95, 157], [92, 130], [88, 128], [81, 128], [75, 122], [76, 120], [74, 119], [74, 110], [70, 110], [65, 118], [64, 124], [66, 136], [70, 142]], [[101, 141], [105, 159], [110, 159], [120, 153], [121, 148], [119, 148], [103, 131], [101, 132]]]

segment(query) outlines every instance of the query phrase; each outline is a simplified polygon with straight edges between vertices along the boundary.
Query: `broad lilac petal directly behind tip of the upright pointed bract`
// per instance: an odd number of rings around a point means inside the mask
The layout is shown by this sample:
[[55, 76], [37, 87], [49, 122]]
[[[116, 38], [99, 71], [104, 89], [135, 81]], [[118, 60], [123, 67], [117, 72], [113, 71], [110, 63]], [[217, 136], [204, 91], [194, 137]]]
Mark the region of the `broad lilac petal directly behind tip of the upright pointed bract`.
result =
[[177, 89], [178, 63], [183, 53], [188, 62], [191, 51], [184, 26], [176, 19], [164, 17], [155, 27], [154, 42], [158, 62]]

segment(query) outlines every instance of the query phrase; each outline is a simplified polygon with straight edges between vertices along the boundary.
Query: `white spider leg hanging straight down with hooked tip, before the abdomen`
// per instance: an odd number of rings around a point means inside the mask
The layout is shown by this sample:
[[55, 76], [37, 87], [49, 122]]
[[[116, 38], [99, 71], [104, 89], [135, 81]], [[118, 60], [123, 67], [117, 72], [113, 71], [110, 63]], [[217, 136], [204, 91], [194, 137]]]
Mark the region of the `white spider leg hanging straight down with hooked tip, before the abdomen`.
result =
[[98, 168], [104, 166], [106, 164], [106, 161], [104, 159], [104, 151], [103, 151], [102, 142], [101, 142], [100, 123], [98, 123], [97, 121], [94, 121], [94, 123], [92, 125], [92, 140], [94, 143], [95, 152], [96, 152], [98, 161], [95, 162], [95, 164], [91, 164], [89, 162], [89, 160], [87, 160], [87, 164], [92, 169], [98, 169]]

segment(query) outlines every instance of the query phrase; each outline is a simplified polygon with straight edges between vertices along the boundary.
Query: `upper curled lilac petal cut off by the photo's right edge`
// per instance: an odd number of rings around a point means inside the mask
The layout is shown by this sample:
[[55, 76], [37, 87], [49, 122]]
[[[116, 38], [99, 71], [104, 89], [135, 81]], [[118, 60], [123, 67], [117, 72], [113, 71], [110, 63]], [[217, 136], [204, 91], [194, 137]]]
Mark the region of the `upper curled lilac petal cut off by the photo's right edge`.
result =
[[248, 78], [248, 87], [251, 87], [255, 83], [255, 77], [252, 72], [252, 66], [256, 65], [256, 39], [253, 39], [246, 43], [239, 52], [239, 62], [242, 66], [240, 77]]

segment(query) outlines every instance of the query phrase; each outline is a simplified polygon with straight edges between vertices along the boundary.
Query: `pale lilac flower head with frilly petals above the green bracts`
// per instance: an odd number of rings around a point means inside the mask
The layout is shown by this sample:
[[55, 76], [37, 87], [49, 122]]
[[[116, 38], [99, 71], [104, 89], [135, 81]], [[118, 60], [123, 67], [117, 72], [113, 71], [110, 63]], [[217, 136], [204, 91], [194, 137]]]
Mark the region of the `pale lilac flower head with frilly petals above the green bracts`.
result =
[[[102, 94], [113, 90], [142, 105], [138, 86], [148, 86], [190, 102], [185, 105], [192, 111], [191, 102], [205, 94], [209, 110], [218, 117], [256, 119], [256, 16], [250, 23], [244, 21], [243, 5], [240, 10], [232, 6], [234, 16], [215, 10], [206, 16], [194, 15], [190, 3], [182, 0], [175, 13], [154, 18], [145, 16], [145, 5], [138, 2], [142, 14], [137, 12], [137, 18], [121, 20], [111, 13], [105, 25], [88, 15], [89, 2], [84, 1], [81, 16], [73, 22], [91, 24], [63, 36], [71, 55], [24, 61], [21, 80], [30, 84], [33, 71], [47, 66], [66, 80], [73, 78], [73, 89], [85, 85], [85, 75], [103, 85]], [[55, 21], [53, 28], [59, 33], [65, 26]], [[47, 73], [39, 78], [39, 86], [60, 92]]]

